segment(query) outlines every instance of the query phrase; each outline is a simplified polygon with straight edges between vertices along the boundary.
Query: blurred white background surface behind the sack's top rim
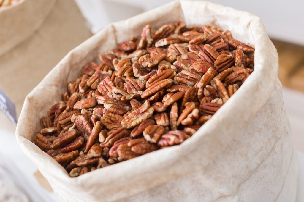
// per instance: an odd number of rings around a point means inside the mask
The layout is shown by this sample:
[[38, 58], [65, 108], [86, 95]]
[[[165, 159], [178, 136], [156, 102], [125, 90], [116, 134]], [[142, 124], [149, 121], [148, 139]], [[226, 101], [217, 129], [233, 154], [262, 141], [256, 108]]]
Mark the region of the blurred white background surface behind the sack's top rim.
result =
[[[75, 0], [80, 6], [81, 12], [92, 25], [92, 32], [96, 33], [110, 22], [123, 20], [145, 12], [157, 6], [171, 2], [172, 0]], [[210, 2], [227, 5], [239, 10], [250, 11], [259, 16], [271, 38], [289, 41], [304, 45], [304, 13], [302, 8], [304, 1], [244, 1], [244, 0], [209, 0]], [[125, 7], [121, 9], [119, 7]], [[117, 8], [116, 8], [117, 7]], [[136, 10], [134, 10], [136, 9]], [[114, 15], [112, 15], [114, 14]]]

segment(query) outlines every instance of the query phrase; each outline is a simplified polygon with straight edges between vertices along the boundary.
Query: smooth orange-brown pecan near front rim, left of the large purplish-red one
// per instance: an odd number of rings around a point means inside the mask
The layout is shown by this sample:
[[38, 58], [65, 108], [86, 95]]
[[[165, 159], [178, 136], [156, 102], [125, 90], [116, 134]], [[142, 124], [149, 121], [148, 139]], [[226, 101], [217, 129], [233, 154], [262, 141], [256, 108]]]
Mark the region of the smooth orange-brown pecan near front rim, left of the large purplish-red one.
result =
[[130, 140], [127, 144], [131, 147], [131, 151], [136, 154], [147, 154], [158, 149], [156, 144], [151, 144], [145, 138]]

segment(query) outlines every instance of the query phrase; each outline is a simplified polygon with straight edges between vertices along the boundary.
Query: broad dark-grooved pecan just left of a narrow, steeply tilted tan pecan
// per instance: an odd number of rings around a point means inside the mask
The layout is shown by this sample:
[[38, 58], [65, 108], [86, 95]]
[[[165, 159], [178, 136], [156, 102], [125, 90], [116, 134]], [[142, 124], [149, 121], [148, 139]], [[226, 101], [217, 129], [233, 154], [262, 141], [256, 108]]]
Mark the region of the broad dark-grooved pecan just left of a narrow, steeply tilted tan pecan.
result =
[[185, 85], [187, 87], [194, 86], [201, 79], [201, 75], [195, 72], [182, 70], [174, 77], [174, 84]]

